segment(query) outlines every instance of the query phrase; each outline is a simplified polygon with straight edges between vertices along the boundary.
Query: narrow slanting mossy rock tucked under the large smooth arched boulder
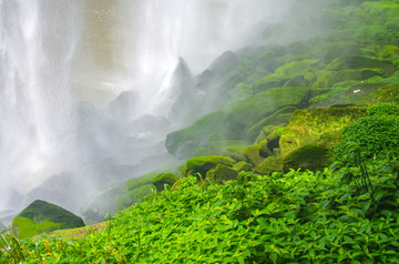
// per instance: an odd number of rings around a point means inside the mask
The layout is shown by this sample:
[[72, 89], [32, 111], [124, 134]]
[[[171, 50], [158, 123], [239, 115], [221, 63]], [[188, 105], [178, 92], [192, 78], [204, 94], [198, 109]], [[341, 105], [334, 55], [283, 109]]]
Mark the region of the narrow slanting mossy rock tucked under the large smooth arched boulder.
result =
[[[284, 125], [286, 125], [289, 122], [291, 113], [294, 113], [295, 110], [296, 110], [295, 106], [283, 108], [283, 109], [276, 111], [275, 113], [273, 113], [272, 115], [263, 119], [262, 121], [259, 121], [258, 123], [256, 123], [248, 130], [248, 132], [247, 132], [248, 139], [250, 141], [256, 139], [256, 136], [259, 135], [259, 133], [263, 131], [263, 128], [265, 128], [265, 126], [284, 126]], [[270, 131], [270, 132], [273, 132], [273, 131]], [[264, 134], [266, 132], [264, 131]]]

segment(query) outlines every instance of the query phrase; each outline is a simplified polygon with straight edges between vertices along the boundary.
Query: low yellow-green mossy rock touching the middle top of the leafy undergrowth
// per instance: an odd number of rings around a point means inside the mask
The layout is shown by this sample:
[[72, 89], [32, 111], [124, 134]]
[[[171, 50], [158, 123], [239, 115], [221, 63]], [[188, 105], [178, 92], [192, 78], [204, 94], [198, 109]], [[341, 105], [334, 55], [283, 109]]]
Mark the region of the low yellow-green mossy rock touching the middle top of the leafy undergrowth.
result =
[[215, 169], [217, 164], [233, 166], [234, 163], [236, 163], [235, 160], [222, 155], [192, 158], [186, 162], [187, 175], [200, 173], [203, 177], [205, 177], [206, 172], [211, 169]]

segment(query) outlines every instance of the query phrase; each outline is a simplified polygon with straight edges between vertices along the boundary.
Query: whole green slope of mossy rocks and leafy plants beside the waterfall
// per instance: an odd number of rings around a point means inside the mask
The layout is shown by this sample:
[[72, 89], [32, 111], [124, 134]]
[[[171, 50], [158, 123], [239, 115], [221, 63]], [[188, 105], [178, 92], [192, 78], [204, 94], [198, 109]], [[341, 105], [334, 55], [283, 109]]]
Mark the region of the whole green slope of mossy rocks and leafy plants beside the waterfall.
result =
[[185, 165], [84, 238], [2, 235], [0, 262], [398, 263], [399, 2], [305, 2], [307, 38], [282, 40], [293, 12], [197, 77], [214, 109], [165, 141]]

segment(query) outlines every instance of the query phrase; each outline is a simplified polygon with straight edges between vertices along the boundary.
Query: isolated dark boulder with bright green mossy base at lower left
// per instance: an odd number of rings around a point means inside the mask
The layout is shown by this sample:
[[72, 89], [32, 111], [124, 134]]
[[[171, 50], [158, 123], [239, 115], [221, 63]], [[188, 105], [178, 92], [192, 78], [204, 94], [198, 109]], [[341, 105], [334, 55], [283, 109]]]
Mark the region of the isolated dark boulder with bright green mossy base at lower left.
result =
[[12, 221], [19, 238], [54, 230], [75, 229], [84, 226], [83, 220], [73, 213], [48, 202], [37, 200], [28, 205]]

